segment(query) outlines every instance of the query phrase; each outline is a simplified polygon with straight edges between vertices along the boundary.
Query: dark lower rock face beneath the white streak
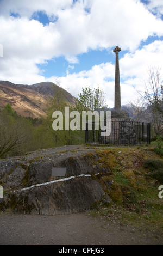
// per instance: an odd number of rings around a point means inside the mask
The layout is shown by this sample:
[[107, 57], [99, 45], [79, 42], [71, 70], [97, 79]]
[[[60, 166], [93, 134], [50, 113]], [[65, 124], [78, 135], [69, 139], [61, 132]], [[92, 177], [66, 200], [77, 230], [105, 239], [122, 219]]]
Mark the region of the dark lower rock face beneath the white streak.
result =
[[89, 209], [103, 196], [96, 180], [81, 176], [11, 193], [10, 207], [23, 214], [71, 214]]

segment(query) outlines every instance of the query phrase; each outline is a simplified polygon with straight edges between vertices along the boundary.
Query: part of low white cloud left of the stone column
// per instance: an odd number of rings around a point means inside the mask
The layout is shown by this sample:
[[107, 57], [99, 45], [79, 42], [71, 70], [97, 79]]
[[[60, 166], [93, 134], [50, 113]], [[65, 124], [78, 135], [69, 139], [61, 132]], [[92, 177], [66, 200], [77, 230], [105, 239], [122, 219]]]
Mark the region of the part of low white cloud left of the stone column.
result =
[[[111, 63], [102, 63], [92, 66], [90, 70], [84, 70], [79, 73], [67, 74], [65, 77], [50, 77], [49, 79], [55, 83], [59, 79], [61, 86], [64, 89], [69, 89], [70, 93], [78, 97], [82, 92], [82, 88], [102, 88], [105, 92], [109, 107], [114, 106], [114, 77], [115, 66]], [[111, 81], [108, 81], [110, 79]]]

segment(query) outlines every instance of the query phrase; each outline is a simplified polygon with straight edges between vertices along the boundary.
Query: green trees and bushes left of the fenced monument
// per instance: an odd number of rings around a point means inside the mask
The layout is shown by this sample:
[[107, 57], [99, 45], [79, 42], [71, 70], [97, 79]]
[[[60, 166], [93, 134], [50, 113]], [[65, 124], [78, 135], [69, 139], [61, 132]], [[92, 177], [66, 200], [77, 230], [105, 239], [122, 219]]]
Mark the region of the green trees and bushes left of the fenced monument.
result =
[[[77, 99], [76, 106], [70, 111], [93, 111], [104, 107], [103, 90], [85, 88]], [[81, 130], [53, 130], [52, 114], [60, 111], [63, 114], [65, 126], [66, 91], [55, 87], [55, 94], [47, 102], [45, 118], [21, 117], [17, 115], [9, 103], [0, 111], [0, 157], [23, 155], [38, 149], [59, 147], [68, 144], [83, 144], [85, 131]]]

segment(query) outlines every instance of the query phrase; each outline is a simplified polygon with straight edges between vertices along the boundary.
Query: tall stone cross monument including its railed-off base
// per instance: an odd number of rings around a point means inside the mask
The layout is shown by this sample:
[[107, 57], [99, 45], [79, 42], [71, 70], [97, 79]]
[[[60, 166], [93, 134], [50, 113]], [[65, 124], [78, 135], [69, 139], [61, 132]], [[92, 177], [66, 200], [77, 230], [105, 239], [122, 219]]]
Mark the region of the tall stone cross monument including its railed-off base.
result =
[[[113, 52], [116, 54], [115, 62], [115, 98], [114, 109], [111, 112], [110, 135], [102, 136], [100, 130], [96, 135], [95, 130], [90, 133], [90, 141], [94, 142], [98, 139], [99, 144], [116, 144], [116, 145], [139, 145], [145, 143], [146, 138], [150, 139], [150, 126], [148, 130], [143, 130], [143, 123], [135, 122], [126, 110], [121, 108], [121, 88], [120, 88], [120, 68], [119, 68], [119, 52], [121, 48], [116, 46]], [[105, 126], [108, 120], [105, 115]], [[146, 126], [147, 127], [147, 126]], [[88, 133], [87, 133], [88, 134]], [[89, 138], [89, 135], [87, 135]], [[93, 139], [92, 139], [93, 138]]]

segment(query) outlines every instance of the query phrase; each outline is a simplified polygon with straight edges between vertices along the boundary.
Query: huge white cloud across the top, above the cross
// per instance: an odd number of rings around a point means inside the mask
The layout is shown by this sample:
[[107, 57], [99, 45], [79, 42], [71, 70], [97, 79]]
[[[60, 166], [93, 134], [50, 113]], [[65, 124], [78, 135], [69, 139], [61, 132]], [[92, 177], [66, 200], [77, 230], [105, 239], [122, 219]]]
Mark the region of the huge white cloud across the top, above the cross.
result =
[[[11, 9], [22, 17], [4, 17], [3, 11], [9, 14]], [[48, 26], [29, 21], [28, 13], [32, 15], [38, 10], [57, 15], [58, 20]], [[1, 43], [10, 56], [16, 53], [23, 58], [26, 54], [28, 58], [36, 57], [38, 62], [61, 55], [72, 62], [77, 54], [115, 45], [134, 51], [149, 35], [163, 35], [163, 22], [136, 0], [115, 0], [114, 4], [112, 0], [94, 0], [90, 13], [85, 11], [83, 1], [72, 7], [72, 1], [5, 0], [0, 22]]]

